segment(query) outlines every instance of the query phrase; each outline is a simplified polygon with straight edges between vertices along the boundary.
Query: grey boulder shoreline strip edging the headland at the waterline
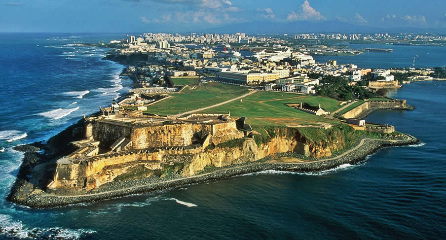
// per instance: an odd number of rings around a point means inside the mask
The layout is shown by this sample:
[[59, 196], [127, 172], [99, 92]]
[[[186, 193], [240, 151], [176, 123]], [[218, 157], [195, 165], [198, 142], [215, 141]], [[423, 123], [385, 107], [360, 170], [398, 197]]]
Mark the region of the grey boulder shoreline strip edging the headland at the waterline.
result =
[[230, 165], [201, 173], [195, 176], [182, 177], [180, 175], [169, 175], [163, 178], [147, 177], [134, 180], [115, 181], [104, 184], [98, 189], [92, 190], [88, 195], [80, 196], [55, 196], [41, 190], [29, 193], [27, 197], [21, 195], [26, 180], [18, 177], [8, 200], [22, 206], [31, 208], [53, 208], [79, 203], [103, 201], [112, 198], [124, 197], [132, 194], [144, 194], [156, 190], [177, 188], [188, 184], [201, 183], [205, 181], [224, 179], [237, 175], [267, 170], [294, 171], [294, 172], [317, 172], [334, 169], [342, 164], [355, 164], [363, 161], [368, 155], [383, 147], [410, 145], [418, 142], [418, 139], [408, 136], [406, 140], [390, 141], [381, 139], [367, 139], [357, 149], [341, 157], [322, 159], [305, 163], [271, 163], [270, 157], [241, 165]]

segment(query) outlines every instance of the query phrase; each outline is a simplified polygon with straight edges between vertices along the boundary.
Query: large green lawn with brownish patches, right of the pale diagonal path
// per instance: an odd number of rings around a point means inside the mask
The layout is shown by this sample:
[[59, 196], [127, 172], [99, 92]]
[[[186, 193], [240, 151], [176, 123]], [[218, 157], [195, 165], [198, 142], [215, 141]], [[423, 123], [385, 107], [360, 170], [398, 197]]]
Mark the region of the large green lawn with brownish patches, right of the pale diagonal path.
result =
[[339, 123], [335, 120], [316, 116], [285, 105], [285, 103], [300, 102], [314, 106], [321, 103], [322, 108], [329, 111], [335, 111], [340, 107], [337, 100], [326, 97], [259, 91], [244, 98], [242, 102], [237, 100], [204, 110], [201, 113], [226, 113], [230, 111], [231, 116], [247, 117], [248, 123], [256, 126], [297, 126], [303, 124], [319, 125], [321, 123]]

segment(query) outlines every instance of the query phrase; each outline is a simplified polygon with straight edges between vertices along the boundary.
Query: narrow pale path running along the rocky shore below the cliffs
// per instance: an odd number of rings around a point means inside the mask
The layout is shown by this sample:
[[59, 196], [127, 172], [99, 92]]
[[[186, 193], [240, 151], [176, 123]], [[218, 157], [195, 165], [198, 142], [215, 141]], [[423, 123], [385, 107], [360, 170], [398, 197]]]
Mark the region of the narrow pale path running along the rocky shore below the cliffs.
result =
[[[408, 137], [408, 139], [409, 139], [409, 137]], [[341, 157], [351, 153], [352, 151], [357, 150], [362, 145], [364, 145], [364, 142], [366, 140], [376, 140], [376, 139], [374, 139], [374, 138], [363, 138], [363, 139], [361, 139], [360, 143], [357, 146], [355, 146], [354, 148], [344, 152], [341, 155], [335, 156], [333, 158], [327, 158], [327, 159], [318, 160], [318, 161], [311, 161], [311, 162], [297, 162], [297, 163], [296, 162], [295, 163], [292, 163], [292, 162], [288, 162], [288, 163], [283, 163], [283, 162], [282, 163], [278, 163], [278, 162], [263, 162], [263, 163], [256, 163], [256, 164], [253, 164], [253, 165], [261, 165], [261, 164], [293, 164], [293, 165], [299, 165], [299, 164], [320, 163], [320, 162], [330, 161], [330, 160], [341, 158]], [[383, 141], [398, 142], [399, 140], [383, 140]], [[105, 191], [105, 192], [100, 192], [100, 193], [93, 193], [93, 194], [67, 195], [67, 196], [65, 196], [65, 195], [64, 196], [59, 196], [59, 195], [55, 195], [55, 194], [47, 194], [47, 195], [53, 196], [53, 197], [59, 197], [59, 198], [77, 198], [77, 197], [98, 196], [98, 195], [109, 194], [109, 193], [113, 193], [113, 192], [117, 192], [117, 191], [125, 191], [125, 190], [132, 190], [132, 189], [140, 188], [140, 187], [153, 186], [155, 184], [169, 183], [169, 182], [175, 182], [175, 181], [180, 181], [180, 180], [185, 180], [185, 179], [190, 179], [190, 178], [195, 178], [195, 177], [202, 177], [202, 176], [213, 174], [213, 173], [218, 172], [218, 171], [228, 171], [228, 170], [234, 170], [234, 169], [239, 169], [239, 168], [244, 168], [244, 167], [246, 167], [246, 166], [237, 166], [237, 167], [233, 167], [233, 168], [212, 171], [212, 172], [203, 173], [203, 174], [199, 174], [199, 175], [193, 175], [193, 176], [182, 177], [182, 178], [177, 178], [177, 179], [173, 179], [173, 180], [167, 180], [167, 181], [162, 181], [162, 182], [157, 182], [157, 183], [149, 183], [149, 184], [145, 184], [145, 185], [132, 186], [132, 187], [121, 188], [121, 189], [116, 189], [116, 190], [110, 190], [110, 191]], [[297, 168], [297, 167], [295, 167], [295, 168]]]

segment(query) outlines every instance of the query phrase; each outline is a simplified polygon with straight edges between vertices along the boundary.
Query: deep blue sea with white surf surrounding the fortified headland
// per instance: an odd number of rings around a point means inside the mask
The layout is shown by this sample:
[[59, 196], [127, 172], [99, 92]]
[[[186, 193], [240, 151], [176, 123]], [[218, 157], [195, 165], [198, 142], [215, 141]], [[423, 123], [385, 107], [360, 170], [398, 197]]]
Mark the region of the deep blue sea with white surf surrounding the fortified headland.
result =
[[[20, 229], [0, 239], [26, 237], [34, 228], [43, 229], [42, 239], [446, 239], [446, 82], [438, 81], [391, 93], [414, 111], [368, 117], [422, 143], [382, 149], [354, 166], [311, 174], [267, 171], [56, 209], [6, 202], [23, 156], [13, 146], [48, 139], [128, 92], [131, 81], [118, 76], [123, 66], [101, 60], [106, 49], [73, 45], [121, 37], [0, 34], [0, 227]], [[423, 58], [425, 66], [445, 62], [446, 48], [400, 47], [401, 58], [422, 50], [437, 56]], [[348, 60], [358, 59], [361, 67], [410, 67], [397, 53]]]

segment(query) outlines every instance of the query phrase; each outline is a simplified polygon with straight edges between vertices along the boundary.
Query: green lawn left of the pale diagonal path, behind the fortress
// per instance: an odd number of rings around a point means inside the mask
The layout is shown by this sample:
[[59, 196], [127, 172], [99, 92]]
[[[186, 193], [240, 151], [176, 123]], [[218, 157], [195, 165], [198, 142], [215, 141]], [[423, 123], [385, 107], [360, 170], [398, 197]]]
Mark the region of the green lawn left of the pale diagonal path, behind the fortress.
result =
[[172, 98], [149, 106], [145, 112], [158, 115], [174, 115], [222, 103], [246, 93], [248, 93], [246, 87], [211, 82], [201, 84], [194, 90], [186, 88], [181, 93], [172, 94]]

